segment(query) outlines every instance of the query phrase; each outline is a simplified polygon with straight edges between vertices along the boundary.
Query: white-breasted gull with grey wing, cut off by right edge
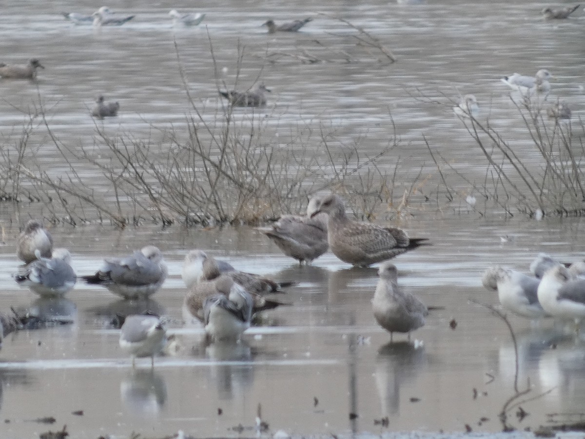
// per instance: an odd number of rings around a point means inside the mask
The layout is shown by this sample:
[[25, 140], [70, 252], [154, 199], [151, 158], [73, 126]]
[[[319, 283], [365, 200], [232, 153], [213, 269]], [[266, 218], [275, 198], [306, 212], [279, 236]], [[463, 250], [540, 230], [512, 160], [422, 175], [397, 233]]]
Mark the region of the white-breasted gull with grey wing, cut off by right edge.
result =
[[542, 277], [538, 300], [553, 317], [574, 320], [585, 317], [585, 279], [573, 279], [566, 267], [555, 266]]

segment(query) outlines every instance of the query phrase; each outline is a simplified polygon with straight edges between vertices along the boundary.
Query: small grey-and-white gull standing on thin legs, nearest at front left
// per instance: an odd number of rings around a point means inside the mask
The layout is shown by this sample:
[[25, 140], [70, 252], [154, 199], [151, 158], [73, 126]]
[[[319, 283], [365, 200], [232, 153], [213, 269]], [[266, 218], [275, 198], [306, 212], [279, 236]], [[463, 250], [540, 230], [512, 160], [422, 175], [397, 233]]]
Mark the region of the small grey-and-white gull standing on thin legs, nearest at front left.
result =
[[120, 329], [120, 347], [132, 357], [135, 367], [136, 357], [150, 356], [154, 367], [154, 355], [159, 354], [167, 341], [167, 330], [163, 321], [156, 315], [129, 315]]

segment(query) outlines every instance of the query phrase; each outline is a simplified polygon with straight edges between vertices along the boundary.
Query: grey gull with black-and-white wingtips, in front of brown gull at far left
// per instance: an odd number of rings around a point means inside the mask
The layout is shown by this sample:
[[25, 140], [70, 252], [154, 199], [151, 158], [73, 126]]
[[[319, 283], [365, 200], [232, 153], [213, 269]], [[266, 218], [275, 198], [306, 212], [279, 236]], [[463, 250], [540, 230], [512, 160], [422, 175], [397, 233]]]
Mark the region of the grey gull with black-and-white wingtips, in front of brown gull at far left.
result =
[[64, 248], [54, 249], [52, 257], [43, 258], [37, 250], [37, 259], [29, 263], [23, 273], [15, 276], [22, 286], [42, 297], [63, 297], [75, 285], [71, 254]]

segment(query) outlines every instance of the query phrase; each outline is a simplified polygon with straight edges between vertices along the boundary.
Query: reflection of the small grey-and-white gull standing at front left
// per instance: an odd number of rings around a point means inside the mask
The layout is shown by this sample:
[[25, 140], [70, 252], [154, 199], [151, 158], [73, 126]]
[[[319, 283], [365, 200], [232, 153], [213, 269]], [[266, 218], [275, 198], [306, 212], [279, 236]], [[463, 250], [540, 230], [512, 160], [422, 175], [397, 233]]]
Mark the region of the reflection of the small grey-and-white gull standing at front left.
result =
[[120, 383], [120, 399], [135, 416], [157, 416], [167, 400], [167, 386], [152, 369], [135, 369]]

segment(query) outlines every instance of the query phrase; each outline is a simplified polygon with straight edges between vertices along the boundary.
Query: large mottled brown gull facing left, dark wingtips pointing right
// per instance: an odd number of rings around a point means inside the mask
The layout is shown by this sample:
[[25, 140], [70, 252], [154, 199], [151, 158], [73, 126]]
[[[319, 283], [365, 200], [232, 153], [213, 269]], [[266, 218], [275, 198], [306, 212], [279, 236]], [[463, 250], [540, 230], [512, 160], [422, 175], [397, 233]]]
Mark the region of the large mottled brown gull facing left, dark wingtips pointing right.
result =
[[314, 197], [309, 203], [309, 217], [319, 212], [329, 214], [329, 248], [335, 256], [358, 267], [367, 267], [424, 245], [426, 238], [408, 238], [405, 231], [381, 227], [347, 218], [342, 198], [335, 194]]

